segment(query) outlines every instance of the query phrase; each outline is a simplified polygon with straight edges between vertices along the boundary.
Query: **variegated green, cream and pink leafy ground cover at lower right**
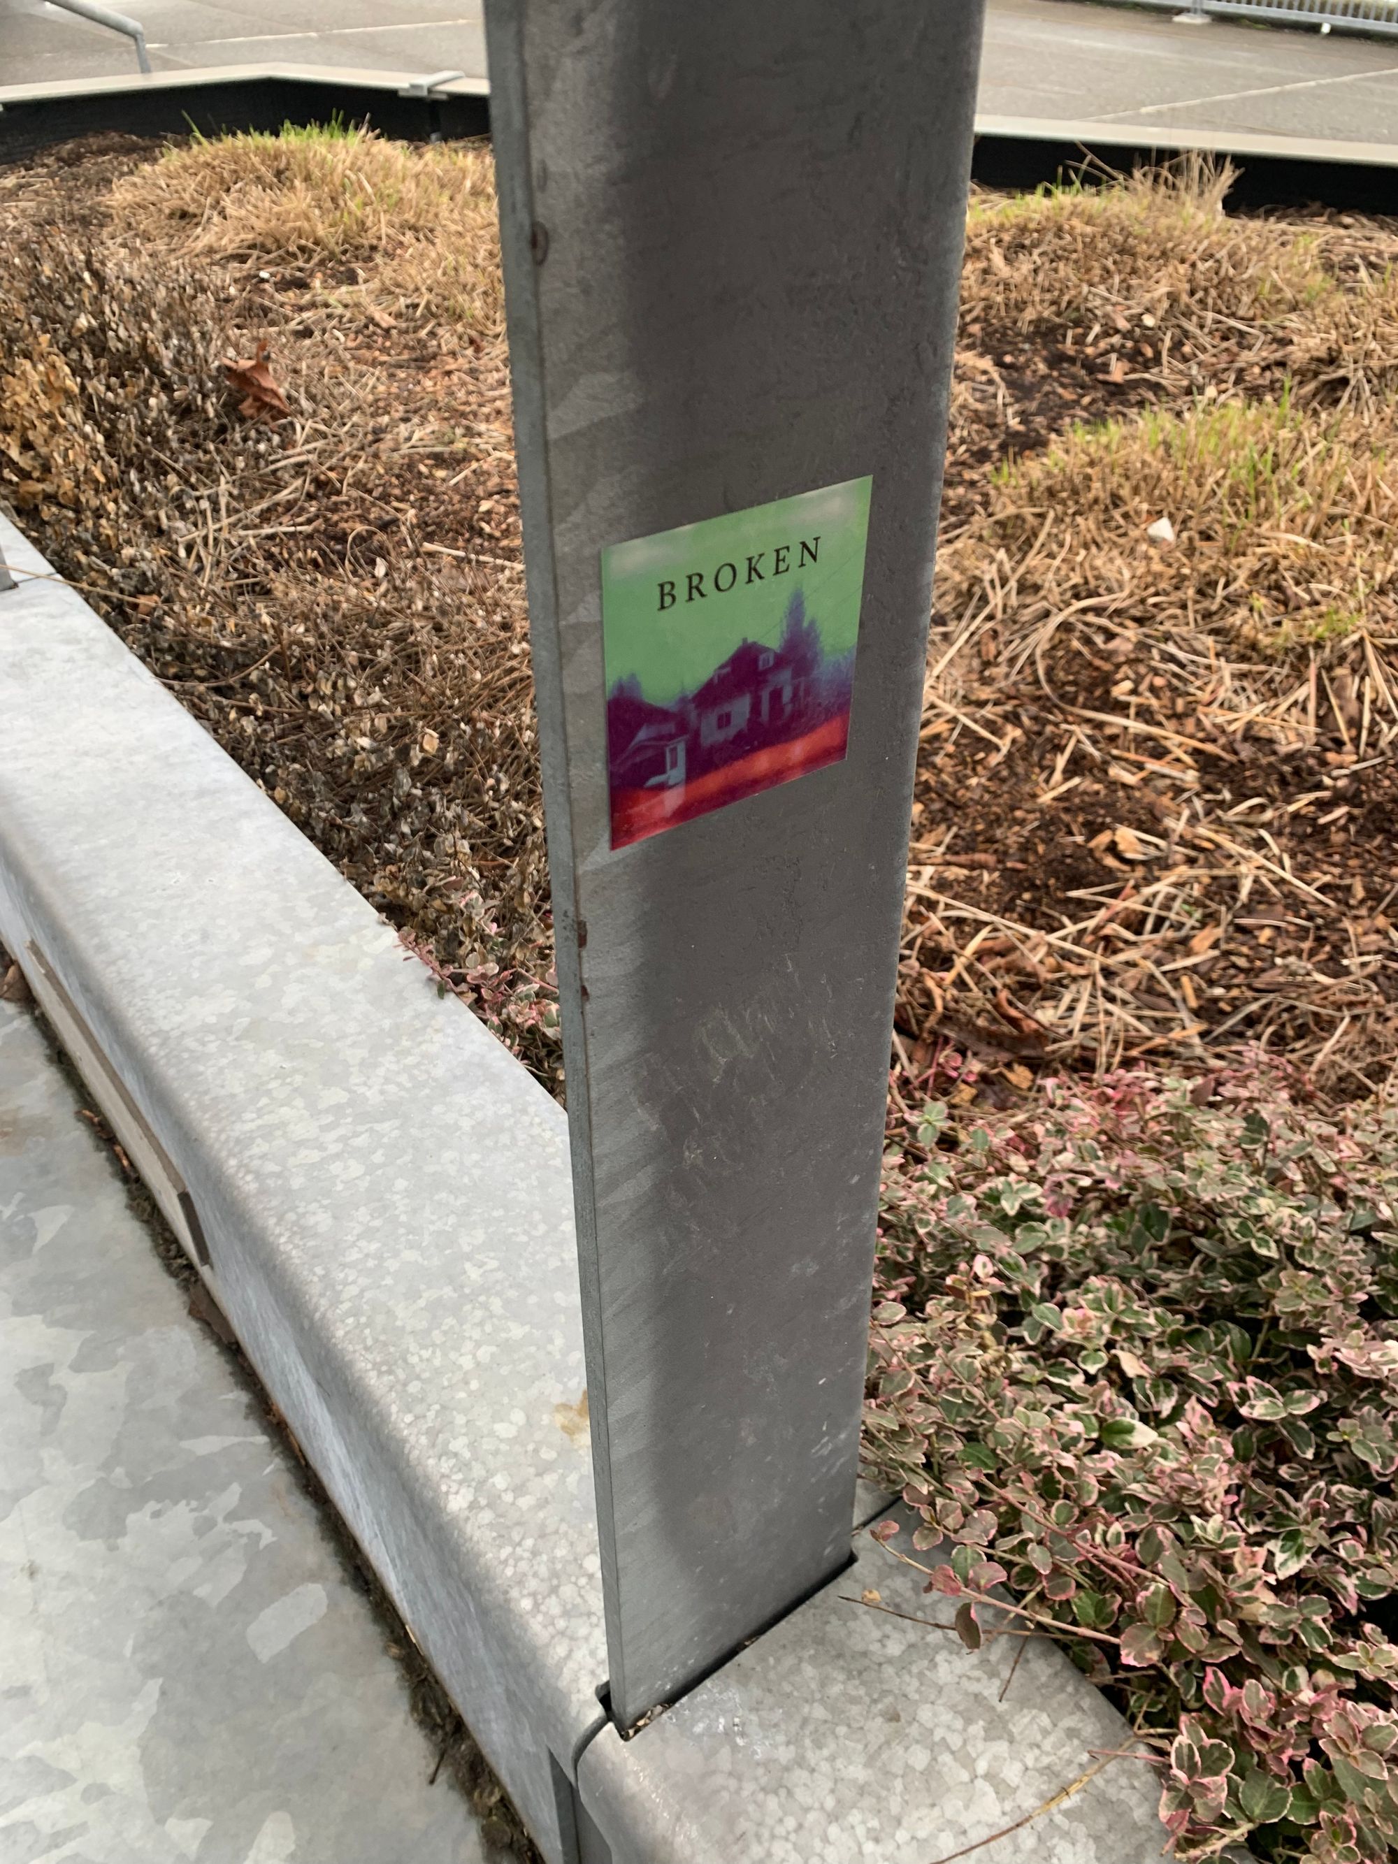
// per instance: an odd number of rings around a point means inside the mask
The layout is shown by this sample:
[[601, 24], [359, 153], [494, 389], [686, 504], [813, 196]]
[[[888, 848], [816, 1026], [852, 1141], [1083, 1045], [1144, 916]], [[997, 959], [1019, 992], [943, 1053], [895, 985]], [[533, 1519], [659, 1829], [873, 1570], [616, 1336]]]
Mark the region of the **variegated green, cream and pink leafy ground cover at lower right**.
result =
[[1398, 1855], [1396, 1212], [1398, 1117], [1266, 1059], [930, 1105], [889, 1159], [891, 1547], [1113, 1691], [1180, 1858]]

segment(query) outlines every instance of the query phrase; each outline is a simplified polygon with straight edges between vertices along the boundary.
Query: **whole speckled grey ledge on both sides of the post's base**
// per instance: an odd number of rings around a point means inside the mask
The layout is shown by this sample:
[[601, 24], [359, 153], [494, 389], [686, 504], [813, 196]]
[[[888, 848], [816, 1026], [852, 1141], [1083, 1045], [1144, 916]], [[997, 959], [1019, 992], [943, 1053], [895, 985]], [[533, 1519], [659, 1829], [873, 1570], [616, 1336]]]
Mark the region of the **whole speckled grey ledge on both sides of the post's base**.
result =
[[[928, 1864], [1122, 1747], [1055, 1650], [999, 1702], [1012, 1640], [863, 1609], [926, 1614], [863, 1536], [619, 1739], [561, 1109], [4, 520], [0, 557], [0, 938], [550, 1864]], [[1146, 1864], [1154, 1801], [1111, 1767], [997, 1864]]]

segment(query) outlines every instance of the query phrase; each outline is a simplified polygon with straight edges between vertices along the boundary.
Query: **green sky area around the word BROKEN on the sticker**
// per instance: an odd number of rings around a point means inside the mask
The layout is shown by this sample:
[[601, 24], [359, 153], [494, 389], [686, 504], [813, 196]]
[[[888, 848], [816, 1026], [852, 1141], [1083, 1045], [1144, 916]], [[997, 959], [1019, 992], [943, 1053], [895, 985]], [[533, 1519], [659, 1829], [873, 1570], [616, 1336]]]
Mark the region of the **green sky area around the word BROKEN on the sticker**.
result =
[[[723, 518], [611, 544], [602, 552], [602, 641], [608, 692], [637, 675], [652, 705], [693, 692], [740, 641], [774, 647], [796, 589], [820, 626], [826, 654], [844, 654], [859, 632], [859, 598], [872, 479], [802, 492]], [[820, 539], [818, 561], [796, 569], [802, 539]], [[774, 576], [774, 552], [790, 544], [790, 570]], [[764, 582], [746, 582], [747, 557]], [[714, 593], [714, 570], [734, 563], [738, 585]], [[703, 600], [686, 602], [688, 576], [703, 574]], [[675, 583], [675, 608], [658, 608], [658, 585]]]

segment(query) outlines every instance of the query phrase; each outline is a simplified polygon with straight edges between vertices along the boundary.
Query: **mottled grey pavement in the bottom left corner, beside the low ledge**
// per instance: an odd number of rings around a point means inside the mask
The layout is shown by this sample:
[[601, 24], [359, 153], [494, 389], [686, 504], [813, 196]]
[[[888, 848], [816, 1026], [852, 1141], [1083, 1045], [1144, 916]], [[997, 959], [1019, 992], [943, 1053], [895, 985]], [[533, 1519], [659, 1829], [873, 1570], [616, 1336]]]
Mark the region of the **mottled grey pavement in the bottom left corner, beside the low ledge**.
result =
[[287, 1452], [76, 1109], [0, 1003], [0, 1858], [483, 1864]]

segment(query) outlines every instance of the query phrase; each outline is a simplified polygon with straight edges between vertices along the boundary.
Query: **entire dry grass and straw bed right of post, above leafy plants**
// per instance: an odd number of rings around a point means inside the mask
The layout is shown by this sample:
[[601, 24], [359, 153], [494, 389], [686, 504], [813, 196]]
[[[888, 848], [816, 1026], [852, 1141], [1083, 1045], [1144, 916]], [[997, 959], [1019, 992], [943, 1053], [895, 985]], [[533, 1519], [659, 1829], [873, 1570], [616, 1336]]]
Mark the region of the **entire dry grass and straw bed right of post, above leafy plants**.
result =
[[[979, 199], [897, 1061], [1398, 1061], [1394, 227]], [[1161, 548], [1148, 526], [1178, 531]], [[969, 1089], [964, 1089], [969, 1092]]]

